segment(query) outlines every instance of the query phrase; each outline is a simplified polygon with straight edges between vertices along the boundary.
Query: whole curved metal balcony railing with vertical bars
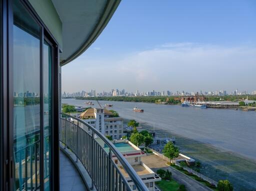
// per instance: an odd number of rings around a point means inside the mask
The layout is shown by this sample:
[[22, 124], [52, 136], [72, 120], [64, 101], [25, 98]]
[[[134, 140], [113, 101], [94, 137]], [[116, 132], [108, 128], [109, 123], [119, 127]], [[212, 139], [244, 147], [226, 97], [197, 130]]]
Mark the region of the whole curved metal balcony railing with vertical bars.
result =
[[82, 163], [91, 178], [91, 186], [96, 190], [132, 191], [130, 182], [127, 182], [112, 160], [112, 156], [115, 156], [136, 189], [147, 191], [142, 180], [115, 146], [84, 121], [61, 113], [60, 141], [75, 154], [76, 160]]

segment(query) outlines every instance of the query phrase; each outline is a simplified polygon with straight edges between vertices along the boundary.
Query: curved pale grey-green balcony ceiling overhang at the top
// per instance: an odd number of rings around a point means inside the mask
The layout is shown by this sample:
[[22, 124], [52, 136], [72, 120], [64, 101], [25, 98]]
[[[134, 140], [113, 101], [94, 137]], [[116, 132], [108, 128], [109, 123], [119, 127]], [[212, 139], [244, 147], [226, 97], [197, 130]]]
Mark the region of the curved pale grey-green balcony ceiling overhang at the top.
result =
[[52, 0], [62, 22], [63, 66], [83, 53], [104, 29], [120, 0]]

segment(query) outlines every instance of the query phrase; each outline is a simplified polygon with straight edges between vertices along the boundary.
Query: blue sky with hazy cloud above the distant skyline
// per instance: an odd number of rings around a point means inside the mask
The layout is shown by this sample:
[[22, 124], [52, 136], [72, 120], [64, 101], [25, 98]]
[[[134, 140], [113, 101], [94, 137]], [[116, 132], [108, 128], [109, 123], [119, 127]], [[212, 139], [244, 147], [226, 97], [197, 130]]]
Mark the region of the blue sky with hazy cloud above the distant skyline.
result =
[[255, 71], [256, 0], [122, 0], [62, 91], [252, 92]]

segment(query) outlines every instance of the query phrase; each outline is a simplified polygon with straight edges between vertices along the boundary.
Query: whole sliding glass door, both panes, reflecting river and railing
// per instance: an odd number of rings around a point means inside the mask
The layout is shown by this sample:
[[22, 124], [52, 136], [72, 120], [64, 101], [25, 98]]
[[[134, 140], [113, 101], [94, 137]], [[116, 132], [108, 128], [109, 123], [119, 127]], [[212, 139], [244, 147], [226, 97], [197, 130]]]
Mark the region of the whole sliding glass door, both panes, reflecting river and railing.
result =
[[13, 190], [49, 191], [53, 46], [22, 1], [12, 8]]

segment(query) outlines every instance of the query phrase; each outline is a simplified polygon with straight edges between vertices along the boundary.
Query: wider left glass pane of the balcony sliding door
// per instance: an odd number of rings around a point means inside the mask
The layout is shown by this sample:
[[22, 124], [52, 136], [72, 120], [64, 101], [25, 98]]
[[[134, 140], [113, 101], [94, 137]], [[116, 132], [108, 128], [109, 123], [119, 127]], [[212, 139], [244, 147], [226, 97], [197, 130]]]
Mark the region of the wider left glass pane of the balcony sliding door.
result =
[[13, 0], [14, 190], [33, 191], [40, 183], [40, 26]]

